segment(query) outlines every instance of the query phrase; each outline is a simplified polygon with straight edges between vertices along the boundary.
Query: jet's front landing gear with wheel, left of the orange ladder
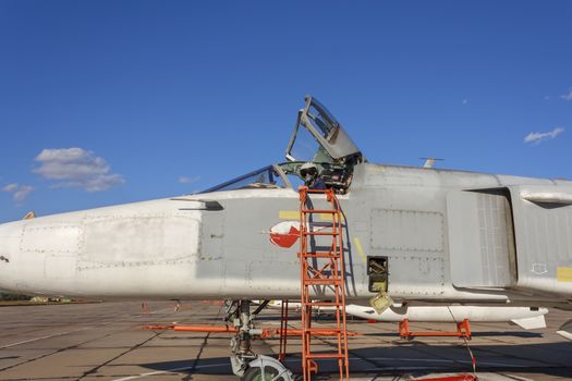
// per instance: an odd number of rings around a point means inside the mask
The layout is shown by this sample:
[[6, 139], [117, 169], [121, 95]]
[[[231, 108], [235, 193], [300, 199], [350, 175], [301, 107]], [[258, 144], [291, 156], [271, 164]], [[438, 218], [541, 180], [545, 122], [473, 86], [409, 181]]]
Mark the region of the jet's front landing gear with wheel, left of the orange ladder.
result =
[[250, 300], [227, 300], [226, 307], [224, 320], [236, 328], [230, 342], [232, 372], [244, 381], [293, 381], [294, 374], [276, 358], [252, 351], [253, 336], [261, 333], [254, 328], [254, 318], [261, 308], [251, 314]]

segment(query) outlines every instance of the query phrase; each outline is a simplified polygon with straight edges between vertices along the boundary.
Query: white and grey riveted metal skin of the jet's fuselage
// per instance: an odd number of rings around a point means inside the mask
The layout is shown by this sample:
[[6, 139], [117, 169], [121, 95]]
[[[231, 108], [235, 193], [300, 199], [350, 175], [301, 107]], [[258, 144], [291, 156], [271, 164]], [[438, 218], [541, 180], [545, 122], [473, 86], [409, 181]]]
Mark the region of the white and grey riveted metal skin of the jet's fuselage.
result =
[[[516, 286], [455, 287], [450, 270], [454, 221], [449, 221], [447, 195], [454, 190], [499, 188], [509, 184], [519, 263]], [[339, 197], [346, 219], [348, 299], [364, 300], [373, 296], [367, 291], [365, 257], [386, 256], [389, 259], [389, 293], [395, 300], [562, 304], [572, 295], [572, 282], [557, 281], [558, 273], [565, 280], [565, 269], [572, 268], [571, 207], [546, 208], [522, 200], [519, 185], [572, 193], [570, 182], [357, 164], [350, 192]], [[218, 201], [222, 209], [204, 208], [202, 200]], [[280, 217], [292, 217], [297, 208], [297, 192], [258, 188], [182, 196], [2, 224], [0, 287], [23, 293], [136, 300], [297, 298], [299, 243], [280, 247], [270, 239], [272, 228], [289, 221]], [[389, 210], [399, 210], [402, 217], [398, 219], [394, 212], [387, 212]], [[129, 229], [118, 225], [117, 217], [129, 217]], [[388, 223], [386, 219], [393, 222], [398, 219], [404, 225], [394, 236], [378, 235], [378, 228]], [[81, 234], [77, 228], [58, 228], [56, 238], [49, 230], [41, 233], [35, 228], [40, 225], [80, 226]], [[437, 228], [439, 225], [441, 228]], [[28, 235], [26, 230], [33, 233]], [[84, 238], [113, 230], [117, 232], [108, 236], [105, 244], [84, 246]], [[144, 234], [159, 238], [142, 247], [137, 239]], [[75, 251], [77, 239], [80, 249]], [[61, 266], [52, 259], [56, 255], [61, 255]], [[70, 265], [74, 258], [75, 272]], [[564, 270], [558, 272], [559, 268]]]

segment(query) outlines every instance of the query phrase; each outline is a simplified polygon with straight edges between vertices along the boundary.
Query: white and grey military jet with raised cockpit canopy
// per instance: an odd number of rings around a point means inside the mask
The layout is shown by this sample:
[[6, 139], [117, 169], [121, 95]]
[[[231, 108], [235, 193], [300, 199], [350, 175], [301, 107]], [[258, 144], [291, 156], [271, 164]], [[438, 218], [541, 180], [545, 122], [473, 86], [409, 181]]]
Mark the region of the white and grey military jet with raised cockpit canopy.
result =
[[[349, 303], [387, 292], [410, 305], [572, 309], [572, 182], [372, 163], [311, 96], [285, 158], [199, 194], [4, 223], [0, 287], [299, 298], [296, 186], [313, 162], [343, 210]], [[312, 229], [328, 216], [318, 220]], [[315, 295], [329, 296], [327, 287]]]

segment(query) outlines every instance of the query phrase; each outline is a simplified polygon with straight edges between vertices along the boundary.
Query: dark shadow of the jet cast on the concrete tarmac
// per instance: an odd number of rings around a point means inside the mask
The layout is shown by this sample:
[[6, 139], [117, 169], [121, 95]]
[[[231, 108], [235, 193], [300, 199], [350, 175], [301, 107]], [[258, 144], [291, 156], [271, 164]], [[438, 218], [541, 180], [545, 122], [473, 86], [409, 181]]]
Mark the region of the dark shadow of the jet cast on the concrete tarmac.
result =
[[[471, 345], [477, 359], [477, 372], [518, 372], [570, 377], [572, 346], [569, 343], [532, 345]], [[350, 369], [356, 373], [404, 374], [421, 377], [435, 372], [471, 372], [472, 360], [463, 345], [419, 345], [406, 342], [401, 346], [351, 349]], [[178, 371], [188, 374], [232, 374], [228, 357], [142, 364], [155, 371]], [[300, 373], [300, 357], [290, 355], [287, 366]], [[334, 362], [320, 362], [320, 373], [337, 371]]]

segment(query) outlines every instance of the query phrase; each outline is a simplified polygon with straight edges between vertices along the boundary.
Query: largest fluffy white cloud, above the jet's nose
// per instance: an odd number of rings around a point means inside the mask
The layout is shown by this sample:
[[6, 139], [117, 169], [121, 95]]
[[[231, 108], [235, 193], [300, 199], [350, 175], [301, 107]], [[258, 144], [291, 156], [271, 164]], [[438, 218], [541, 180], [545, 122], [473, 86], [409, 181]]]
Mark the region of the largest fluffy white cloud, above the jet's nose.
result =
[[122, 175], [109, 173], [111, 169], [104, 158], [77, 147], [44, 149], [35, 160], [40, 165], [34, 173], [59, 181], [56, 187], [101, 192], [125, 182]]

